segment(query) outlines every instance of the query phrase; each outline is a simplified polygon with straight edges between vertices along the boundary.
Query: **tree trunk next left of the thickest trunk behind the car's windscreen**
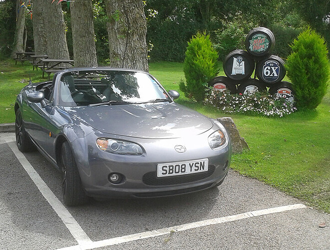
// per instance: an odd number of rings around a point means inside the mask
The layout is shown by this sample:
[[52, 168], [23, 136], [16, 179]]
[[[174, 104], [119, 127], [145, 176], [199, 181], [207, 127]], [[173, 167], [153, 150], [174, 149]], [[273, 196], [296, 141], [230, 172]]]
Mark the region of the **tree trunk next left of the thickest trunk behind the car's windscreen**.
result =
[[97, 66], [92, 0], [70, 4], [74, 66]]

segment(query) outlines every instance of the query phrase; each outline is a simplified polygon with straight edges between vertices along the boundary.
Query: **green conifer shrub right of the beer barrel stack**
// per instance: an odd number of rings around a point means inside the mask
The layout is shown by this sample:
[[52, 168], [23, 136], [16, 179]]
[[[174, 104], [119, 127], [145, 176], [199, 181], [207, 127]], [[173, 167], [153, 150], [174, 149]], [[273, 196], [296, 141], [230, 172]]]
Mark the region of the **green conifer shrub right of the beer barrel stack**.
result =
[[330, 79], [325, 39], [308, 27], [291, 45], [287, 75], [295, 86], [298, 109], [316, 108], [327, 92]]

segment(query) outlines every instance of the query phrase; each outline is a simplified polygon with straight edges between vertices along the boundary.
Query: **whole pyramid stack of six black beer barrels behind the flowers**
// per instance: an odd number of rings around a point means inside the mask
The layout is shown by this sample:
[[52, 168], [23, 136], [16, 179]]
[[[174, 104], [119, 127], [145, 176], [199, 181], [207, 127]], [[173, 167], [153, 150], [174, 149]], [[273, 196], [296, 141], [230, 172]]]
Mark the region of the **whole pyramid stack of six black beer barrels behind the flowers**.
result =
[[[292, 83], [282, 81], [286, 75], [285, 62], [271, 54], [274, 46], [275, 36], [270, 29], [254, 28], [246, 37], [246, 50], [236, 49], [226, 56], [223, 62], [226, 76], [217, 76], [209, 84], [239, 94], [251, 94], [269, 88], [270, 94], [294, 102]], [[254, 78], [251, 78], [253, 71]]]

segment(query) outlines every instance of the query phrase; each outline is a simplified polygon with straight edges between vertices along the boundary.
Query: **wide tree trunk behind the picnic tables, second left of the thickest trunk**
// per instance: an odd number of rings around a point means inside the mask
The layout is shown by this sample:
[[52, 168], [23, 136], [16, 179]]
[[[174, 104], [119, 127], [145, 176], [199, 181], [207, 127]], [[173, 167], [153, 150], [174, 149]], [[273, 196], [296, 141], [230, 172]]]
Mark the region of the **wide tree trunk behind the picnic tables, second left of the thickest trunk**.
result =
[[[61, 4], [42, 0], [42, 17], [47, 40], [47, 55], [52, 59], [69, 59], [65, 38], [65, 22]], [[33, 15], [32, 15], [33, 18]]]

